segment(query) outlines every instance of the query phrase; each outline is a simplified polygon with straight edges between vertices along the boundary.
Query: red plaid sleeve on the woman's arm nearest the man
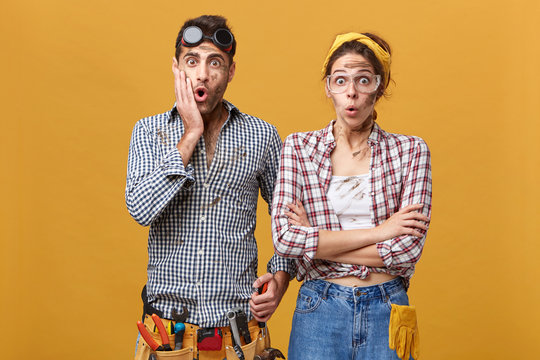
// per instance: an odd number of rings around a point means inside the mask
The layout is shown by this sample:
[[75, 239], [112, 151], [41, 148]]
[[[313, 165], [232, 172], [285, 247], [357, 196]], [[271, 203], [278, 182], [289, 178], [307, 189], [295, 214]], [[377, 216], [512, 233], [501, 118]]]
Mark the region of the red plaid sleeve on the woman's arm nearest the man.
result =
[[287, 258], [303, 258], [311, 262], [317, 252], [319, 230], [316, 227], [289, 224], [287, 204], [301, 199], [303, 177], [291, 136], [285, 139], [272, 202], [272, 238], [276, 253]]

